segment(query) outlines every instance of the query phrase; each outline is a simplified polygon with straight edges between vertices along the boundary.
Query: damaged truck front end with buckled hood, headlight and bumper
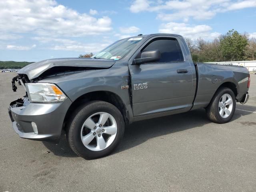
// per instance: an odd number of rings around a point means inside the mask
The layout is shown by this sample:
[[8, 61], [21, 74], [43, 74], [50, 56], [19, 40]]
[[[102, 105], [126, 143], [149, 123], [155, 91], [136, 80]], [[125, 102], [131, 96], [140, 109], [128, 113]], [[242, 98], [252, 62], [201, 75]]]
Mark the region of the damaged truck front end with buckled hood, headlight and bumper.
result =
[[12, 78], [12, 90], [17, 91], [18, 83], [26, 95], [11, 102], [8, 109], [15, 132], [21, 138], [32, 140], [60, 138], [72, 101], [57, 84], [43, 80], [106, 69], [113, 64], [114, 61], [102, 59], [64, 58], [36, 62], [19, 70]]

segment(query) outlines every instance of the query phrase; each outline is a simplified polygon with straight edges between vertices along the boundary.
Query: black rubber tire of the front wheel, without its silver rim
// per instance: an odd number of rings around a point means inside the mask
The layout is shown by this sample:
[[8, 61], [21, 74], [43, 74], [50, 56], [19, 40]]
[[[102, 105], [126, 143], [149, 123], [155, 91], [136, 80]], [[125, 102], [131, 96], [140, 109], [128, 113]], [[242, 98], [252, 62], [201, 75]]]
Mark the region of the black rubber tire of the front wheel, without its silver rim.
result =
[[[114, 141], [110, 146], [108, 146], [104, 150], [100, 151], [92, 151], [84, 146], [81, 139], [81, 129], [85, 120], [90, 117], [92, 114], [97, 112], [106, 112], [111, 114], [116, 120], [117, 124], [117, 132]], [[124, 135], [124, 119], [122, 117], [121, 112], [114, 105], [103, 102], [103, 101], [92, 101], [84, 104], [83, 106], [77, 108], [70, 121], [68, 123], [68, 128], [66, 130], [66, 137], [70, 148], [78, 154], [86, 159], [95, 159], [103, 156], [107, 156], [110, 154], [118, 143], [122, 140]]]

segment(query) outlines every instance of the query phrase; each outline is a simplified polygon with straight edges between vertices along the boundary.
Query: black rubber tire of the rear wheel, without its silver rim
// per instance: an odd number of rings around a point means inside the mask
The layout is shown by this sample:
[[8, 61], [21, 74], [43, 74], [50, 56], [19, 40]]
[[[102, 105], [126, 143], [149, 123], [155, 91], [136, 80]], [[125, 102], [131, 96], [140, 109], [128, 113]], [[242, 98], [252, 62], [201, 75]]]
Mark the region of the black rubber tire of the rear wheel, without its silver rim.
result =
[[[232, 97], [233, 108], [230, 115], [227, 118], [223, 118], [219, 113], [219, 101], [220, 101], [220, 98], [226, 93]], [[210, 104], [207, 106], [206, 115], [208, 119], [211, 120], [212, 122], [222, 124], [222, 123], [227, 123], [232, 119], [232, 117], [234, 116], [235, 110], [236, 110], [236, 98], [235, 98], [234, 92], [230, 88], [222, 87], [216, 91]]]

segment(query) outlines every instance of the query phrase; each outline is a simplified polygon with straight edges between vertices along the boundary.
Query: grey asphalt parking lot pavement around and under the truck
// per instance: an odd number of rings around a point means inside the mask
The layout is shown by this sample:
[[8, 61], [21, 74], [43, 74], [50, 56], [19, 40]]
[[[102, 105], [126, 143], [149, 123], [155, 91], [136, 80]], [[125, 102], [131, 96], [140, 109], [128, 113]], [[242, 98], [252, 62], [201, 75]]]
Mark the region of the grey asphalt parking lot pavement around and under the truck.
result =
[[215, 124], [205, 110], [135, 122], [110, 156], [85, 160], [59, 144], [21, 139], [7, 108], [15, 73], [0, 74], [0, 192], [256, 191], [256, 75], [250, 99]]

